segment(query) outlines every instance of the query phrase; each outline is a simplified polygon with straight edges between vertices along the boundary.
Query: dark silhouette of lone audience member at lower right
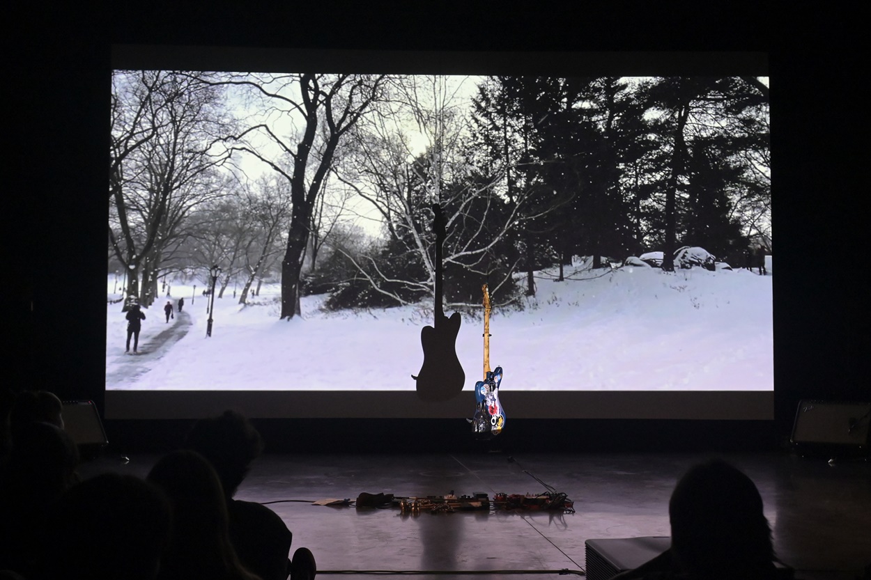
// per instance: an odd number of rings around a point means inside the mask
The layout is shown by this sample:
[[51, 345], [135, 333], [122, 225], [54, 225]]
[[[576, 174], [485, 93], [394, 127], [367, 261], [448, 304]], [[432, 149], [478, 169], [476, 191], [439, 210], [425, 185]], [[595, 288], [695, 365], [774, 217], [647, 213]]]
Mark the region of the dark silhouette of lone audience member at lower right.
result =
[[775, 566], [771, 528], [753, 481], [714, 459], [689, 469], [669, 502], [672, 547], [619, 580], [762, 580], [790, 576]]

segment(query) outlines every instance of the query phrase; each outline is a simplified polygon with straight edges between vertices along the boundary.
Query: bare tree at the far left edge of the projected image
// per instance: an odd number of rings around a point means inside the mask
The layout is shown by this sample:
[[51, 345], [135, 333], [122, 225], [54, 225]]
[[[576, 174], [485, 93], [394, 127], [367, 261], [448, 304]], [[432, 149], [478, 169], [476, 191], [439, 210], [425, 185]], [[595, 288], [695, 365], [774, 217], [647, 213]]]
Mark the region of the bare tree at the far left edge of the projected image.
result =
[[127, 269], [127, 295], [150, 304], [161, 254], [179, 224], [220, 193], [213, 170], [226, 156], [208, 151], [223, 111], [219, 90], [196, 76], [117, 72], [116, 81], [109, 235]]

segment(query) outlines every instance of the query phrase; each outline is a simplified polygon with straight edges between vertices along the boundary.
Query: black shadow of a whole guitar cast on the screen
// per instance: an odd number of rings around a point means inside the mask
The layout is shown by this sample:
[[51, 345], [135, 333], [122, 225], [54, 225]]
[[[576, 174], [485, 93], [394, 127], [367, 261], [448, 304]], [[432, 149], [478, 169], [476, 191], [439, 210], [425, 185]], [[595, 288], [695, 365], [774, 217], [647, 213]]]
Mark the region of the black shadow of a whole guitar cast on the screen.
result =
[[433, 205], [436, 219], [436, 320], [433, 326], [421, 329], [423, 365], [411, 378], [417, 381], [417, 396], [423, 401], [448, 401], [463, 390], [466, 374], [456, 356], [456, 335], [460, 332], [460, 313], [450, 317], [442, 309], [442, 243], [444, 242], [444, 216], [438, 204]]

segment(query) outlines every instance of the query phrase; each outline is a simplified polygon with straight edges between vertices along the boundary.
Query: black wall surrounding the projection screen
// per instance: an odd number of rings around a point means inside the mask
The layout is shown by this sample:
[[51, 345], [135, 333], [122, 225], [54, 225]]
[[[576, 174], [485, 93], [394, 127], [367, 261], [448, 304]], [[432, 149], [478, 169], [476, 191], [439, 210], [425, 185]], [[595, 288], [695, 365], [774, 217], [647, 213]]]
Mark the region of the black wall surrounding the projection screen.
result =
[[[199, 3], [197, 3], [199, 4]], [[692, 4], [692, 19], [657, 10], [547, 10], [544, 4], [499, 3], [499, 10], [456, 3], [98, 3], [90, 9], [34, 8], [12, 26], [6, 93], [12, 121], [4, 159], [6, 241], [3, 270], [12, 324], [7, 336], [17, 387], [48, 388], [62, 398], [93, 399], [102, 407], [105, 260], [106, 135], [109, 131], [110, 46], [200, 44], [375, 50], [486, 51], [769, 51], [771, 55], [776, 422], [765, 428], [733, 423], [517, 422], [516, 433], [547, 444], [572, 434], [611, 445], [646, 441], [679, 446], [687, 433], [708, 441], [771, 441], [788, 434], [801, 398], [868, 400], [861, 358], [868, 327], [861, 283], [867, 268], [861, 211], [858, 41], [834, 26], [834, 16], [787, 15], [756, 6], [750, 13], [716, 12]], [[495, 5], [495, 4], [494, 4]], [[242, 8], [244, 6], [244, 8]], [[84, 11], [83, 11], [84, 10]], [[678, 12], [677, 7], [673, 8]], [[40, 13], [37, 13], [40, 12]], [[848, 22], [849, 15], [835, 15]], [[858, 19], [858, 17], [856, 17]], [[676, 27], [674, 23], [682, 23]], [[94, 164], [94, 159], [106, 164]], [[160, 423], [167, 440], [183, 430]], [[287, 424], [262, 423], [276, 434]], [[131, 444], [138, 427], [112, 426]], [[325, 422], [336, 441], [356, 437], [360, 425]], [[418, 431], [395, 422], [396, 428]], [[443, 425], [431, 426], [439, 433]], [[754, 429], [760, 429], [759, 432]], [[357, 431], [354, 433], [354, 431]], [[367, 429], [364, 429], [367, 431]], [[152, 429], [153, 432], [153, 429]], [[368, 429], [373, 442], [382, 442]], [[453, 433], [451, 429], [446, 431]], [[508, 439], [509, 433], [504, 435]], [[523, 436], [525, 436], [523, 435]], [[110, 429], [111, 436], [111, 429]], [[145, 436], [145, 435], [142, 435]], [[387, 435], [384, 435], [387, 436]], [[446, 435], [450, 436], [450, 435]], [[280, 440], [280, 435], [275, 435]], [[521, 437], [521, 435], [517, 435]], [[522, 438], [522, 437], [521, 437]], [[437, 437], [436, 437], [437, 439]], [[365, 440], [364, 440], [365, 441]], [[518, 440], [519, 441], [519, 440]], [[459, 444], [459, 443], [458, 443]], [[519, 444], [519, 443], [518, 443]], [[604, 443], [602, 443], [604, 444]], [[650, 444], [650, 443], [648, 443]], [[750, 443], [748, 443], [750, 444]], [[341, 445], [340, 445], [341, 447]]]

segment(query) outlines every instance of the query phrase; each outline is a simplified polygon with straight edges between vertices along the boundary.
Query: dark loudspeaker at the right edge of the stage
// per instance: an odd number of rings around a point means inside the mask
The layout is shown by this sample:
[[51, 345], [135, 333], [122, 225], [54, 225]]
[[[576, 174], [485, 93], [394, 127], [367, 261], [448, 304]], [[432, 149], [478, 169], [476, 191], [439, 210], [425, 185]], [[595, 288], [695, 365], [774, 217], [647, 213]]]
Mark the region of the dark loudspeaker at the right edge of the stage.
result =
[[795, 413], [793, 436], [797, 446], [868, 448], [871, 403], [803, 400]]

